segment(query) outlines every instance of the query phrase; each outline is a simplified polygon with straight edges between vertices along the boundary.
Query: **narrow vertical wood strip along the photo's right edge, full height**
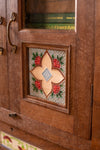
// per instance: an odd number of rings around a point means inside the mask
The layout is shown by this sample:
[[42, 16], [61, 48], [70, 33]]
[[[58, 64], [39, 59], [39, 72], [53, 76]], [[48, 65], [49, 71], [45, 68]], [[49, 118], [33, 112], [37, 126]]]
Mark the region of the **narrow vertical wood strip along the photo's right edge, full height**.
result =
[[95, 0], [95, 68], [92, 150], [100, 150], [100, 1]]

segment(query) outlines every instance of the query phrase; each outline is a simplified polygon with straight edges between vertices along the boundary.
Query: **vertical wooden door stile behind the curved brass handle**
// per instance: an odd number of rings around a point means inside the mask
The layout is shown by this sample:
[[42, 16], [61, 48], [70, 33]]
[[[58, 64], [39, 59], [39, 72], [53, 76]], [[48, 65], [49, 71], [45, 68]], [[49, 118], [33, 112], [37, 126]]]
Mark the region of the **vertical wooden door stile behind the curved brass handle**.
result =
[[[9, 23], [12, 12], [15, 12], [18, 18], [17, 0], [7, 0], [7, 21]], [[11, 46], [8, 43], [8, 64], [9, 64], [9, 96], [10, 109], [19, 112], [20, 87], [21, 87], [21, 62], [18, 45], [18, 19], [11, 24], [10, 38], [13, 44], [17, 45], [17, 53], [11, 53]]]

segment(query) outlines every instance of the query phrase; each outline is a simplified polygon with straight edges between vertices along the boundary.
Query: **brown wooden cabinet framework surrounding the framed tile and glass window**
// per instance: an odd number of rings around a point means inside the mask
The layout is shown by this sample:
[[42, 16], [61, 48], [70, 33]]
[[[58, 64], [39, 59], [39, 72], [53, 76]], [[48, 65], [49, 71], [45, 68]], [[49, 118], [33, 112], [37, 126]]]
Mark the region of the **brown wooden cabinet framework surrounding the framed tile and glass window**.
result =
[[[5, 0], [1, 7], [6, 8]], [[64, 30], [33, 30], [21, 29], [21, 5], [18, 0], [7, 0], [7, 23], [12, 12], [17, 14], [17, 21], [11, 25], [11, 39], [17, 45], [17, 53], [11, 53], [8, 44], [8, 74], [7, 56], [0, 56], [0, 130], [15, 137], [21, 138], [30, 144], [36, 144], [46, 150], [90, 150], [91, 149], [91, 84], [93, 84], [94, 69], [94, 0], [77, 0], [77, 23], [76, 32]], [[99, 4], [99, 5], [98, 5]], [[3, 6], [4, 5], [4, 6]], [[19, 6], [19, 8], [18, 8]], [[96, 42], [99, 41], [99, 7], [96, 0]], [[20, 10], [20, 11], [19, 11]], [[3, 12], [3, 11], [2, 11]], [[4, 13], [5, 17], [6, 13]], [[0, 26], [5, 31], [5, 27]], [[20, 29], [20, 30], [19, 30]], [[6, 31], [5, 31], [6, 39]], [[0, 39], [1, 39], [0, 34]], [[3, 39], [3, 40], [4, 40]], [[2, 40], [1, 40], [2, 41]], [[0, 42], [1, 42], [0, 41]], [[46, 106], [32, 104], [23, 99], [22, 78], [22, 45], [71, 45], [71, 83], [70, 83], [70, 114], [48, 109]], [[2, 46], [2, 44], [0, 45]], [[6, 49], [6, 43], [4, 43]], [[99, 150], [100, 134], [98, 133], [99, 120], [99, 42], [95, 53], [95, 93], [94, 93], [94, 116], [93, 116], [93, 150], [97, 146]], [[2, 57], [2, 58], [1, 58]], [[5, 64], [6, 63], [6, 64]], [[4, 65], [5, 64], [5, 65]], [[4, 68], [3, 66], [4, 65]], [[3, 72], [3, 69], [6, 71]], [[4, 73], [4, 76], [2, 75]], [[9, 77], [9, 78], [8, 78]], [[8, 83], [9, 79], [9, 100]], [[2, 85], [4, 87], [2, 87]], [[6, 85], [6, 86], [5, 86]], [[98, 86], [97, 86], [98, 85]], [[6, 91], [5, 91], [6, 89]], [[2, 93], [4, 94], [2, 97]], [[5, 102], [4, 102], [5, 100]], [[7, 110], [10, 107], [10, 111]], [[4, 109], [7, 108], [7, 109]], [[18, 117], [9, 118], [9, 113], [17, 112]], [[2, 117], [3, 116], [3, 117]], [[11, 127], [14, 131], [11, 131]], [[27, 133], [26, 133], [27, 131]], [[96, 131], [96, 132], [95, 132]], [[26, 138], [27, 135], [27, 138]], [[39, 136], [39, 138], [38, 138]], [[41, 139], [40, 139], [41, 138]], [[47, 141], [45, 141], [47, 140]], [[62, 147], [59, 147], [60, 145]], [[42, 143], [43, 142], [43, 143]], [[67, 149], [66, 149], [67, 150]]]

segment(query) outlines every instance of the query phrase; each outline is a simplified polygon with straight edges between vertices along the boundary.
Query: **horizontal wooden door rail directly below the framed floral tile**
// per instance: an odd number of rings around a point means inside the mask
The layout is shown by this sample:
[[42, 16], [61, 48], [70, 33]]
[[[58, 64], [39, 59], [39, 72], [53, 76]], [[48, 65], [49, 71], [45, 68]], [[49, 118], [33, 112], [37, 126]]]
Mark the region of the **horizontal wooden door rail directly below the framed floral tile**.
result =
[[33, 120], [73, 133], [74, 118], [72, 115], [66, 115], [56, 110], [26, 102], [25, 100], [21, 101], [21, 113]]

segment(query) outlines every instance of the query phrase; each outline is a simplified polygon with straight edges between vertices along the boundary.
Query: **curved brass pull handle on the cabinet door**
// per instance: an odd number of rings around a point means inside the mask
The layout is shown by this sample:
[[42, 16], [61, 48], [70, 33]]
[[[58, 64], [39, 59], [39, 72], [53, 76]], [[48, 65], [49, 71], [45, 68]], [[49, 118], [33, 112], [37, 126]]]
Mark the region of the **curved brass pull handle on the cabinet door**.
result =
[[8, 27], [7, 27], [8, 42], [12, 46], [11, 52], [13, 52], [13, 53], [16, 53], [17, 46], [12, 44], [12, 42], [11, 42], [11, 39], [10, 39], [10, 25], [11, 25], [12, 22], [15, 22], [15, 21], [16, 21], [16, 14], [13, 12], [12, 15], [11, 15], [11, 19], [8, 23]]

